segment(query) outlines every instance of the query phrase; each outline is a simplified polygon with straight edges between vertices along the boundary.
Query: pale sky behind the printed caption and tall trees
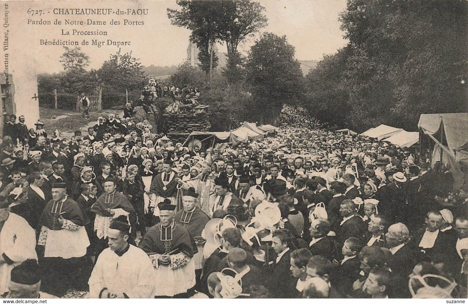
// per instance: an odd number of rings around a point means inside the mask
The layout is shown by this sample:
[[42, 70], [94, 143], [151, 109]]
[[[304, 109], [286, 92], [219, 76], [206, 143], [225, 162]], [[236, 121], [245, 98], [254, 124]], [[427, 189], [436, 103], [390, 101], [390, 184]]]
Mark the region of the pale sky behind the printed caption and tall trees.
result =
[[[261, 32], [286, 35], [288, 42], [296, 49], [299, 60], [320, 60], [324, 54], [335, 53], [347, 41], [340, 30], [338, 15], [344, 11], [346, 0], [260, 0], [265, 7], [268, 26]], [[5, 3], [5, 2], [4, 2]], [[187, 57], [190, 30], [170, 24], [167, 8], [178, 8], [175, 0], [154, 1], [7, 1], [9, 4], [9, 50], [10, 63], [15, 68], [28, 68], [31, 73], [55, 73], [63, 70], [60, 55], [64, 52], [59, 45], [40, 45], [40, 39], [63, 39], [83, 41], [91, 44], [92, 39], [131, 41], [132, 45], [122, 46], [122, 52], [132, 52], [144, 66], [171, 66], [182, 63]], [[42, 10], [43, 15], [28, 15], [28, 9]], [[55, 15], [57, 8], [111, 8], [148, 9], [147, 15]], [[28, 24], [28, 19], [29, 24]], [[51, 21], [51, 25], [32, 24], [32, 21]], [[58, 19], [61, 25], [54, 25]], [[65, 19], [84, 21], [85, 25], [65, 25]], [[87, 19], [106, 21], [107, 25], [86, 25]], [[118, 20], [120, 25], [110, 25]], [[145, 25], [123, 25], [124, 19], [142, 21]], [[107, 31], [108, 36], [66, 36], [64, 32], [73, 30]], [[246, 53], [255, 39], [239, 46]], [[103, 45], [80, 45], [90, 57], [89, 68], [98, 69], [117, 52], [118, 47]], [[218, 45], [219, 52], [226, 52], [226, 45]], [[21, 62], [21, 64], [19, 63]], [[88, 69], [89, 69], [88, 68]]]

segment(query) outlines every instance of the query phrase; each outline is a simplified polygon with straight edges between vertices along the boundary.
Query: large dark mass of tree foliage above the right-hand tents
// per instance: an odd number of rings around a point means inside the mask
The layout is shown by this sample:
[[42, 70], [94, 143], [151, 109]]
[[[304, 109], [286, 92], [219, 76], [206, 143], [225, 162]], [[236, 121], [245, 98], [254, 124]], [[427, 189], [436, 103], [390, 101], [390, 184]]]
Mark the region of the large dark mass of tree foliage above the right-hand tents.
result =
[[467, 1], [353, 0], [340, 20], [347, 47], [306, 77], [315, 109], [329, 106], [322, 89], [343, 93], [334, 104], [347, 105], [344, 119], [357, 131], [412, 130], [421, 113], [468, 110]]

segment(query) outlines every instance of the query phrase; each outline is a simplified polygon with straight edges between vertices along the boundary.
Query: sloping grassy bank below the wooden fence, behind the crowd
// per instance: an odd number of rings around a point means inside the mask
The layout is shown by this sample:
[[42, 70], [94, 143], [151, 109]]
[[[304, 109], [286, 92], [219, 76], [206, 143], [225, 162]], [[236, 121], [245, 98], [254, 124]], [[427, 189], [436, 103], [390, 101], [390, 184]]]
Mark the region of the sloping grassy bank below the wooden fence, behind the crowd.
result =
[[[87, 126], [91, 121], [96, 121], [99, 116], [107, 117], [108, 114], [120, 114], [120, 110], [102, 110], [99, 112], [90, 111], [91, 119], [83, 118], [83, 113], [70, 110], [55, 110], [46, 107], [39, 107], [41, 121], [44, 123], [44, 129], [51, 134], [58, 129], [60, 132], [73, 133], [82, 127]], [[122, 116], [122, 115], [121, 115]], [[55, 117], [55, 118], [54, 118]], [[122, 117], [121, 117], [122, 118]]]

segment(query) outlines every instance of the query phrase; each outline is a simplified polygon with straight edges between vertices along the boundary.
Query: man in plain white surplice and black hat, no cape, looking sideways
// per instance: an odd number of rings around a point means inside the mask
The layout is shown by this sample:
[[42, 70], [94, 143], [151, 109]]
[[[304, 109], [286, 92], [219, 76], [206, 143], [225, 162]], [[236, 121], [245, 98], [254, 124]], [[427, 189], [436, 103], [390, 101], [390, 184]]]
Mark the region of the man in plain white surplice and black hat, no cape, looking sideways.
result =
[[90, 298], [152, 298], [154, 271], [146, 252], [128, 243], [130, 225], [124, 216], [110, 222], [109, 248], [97, 258], [89, 278]]

